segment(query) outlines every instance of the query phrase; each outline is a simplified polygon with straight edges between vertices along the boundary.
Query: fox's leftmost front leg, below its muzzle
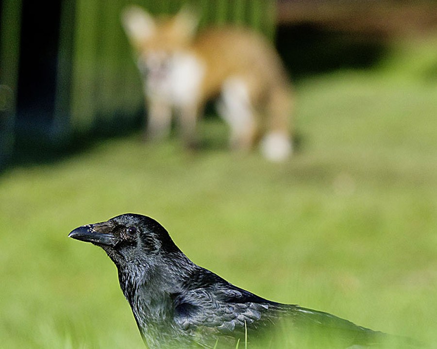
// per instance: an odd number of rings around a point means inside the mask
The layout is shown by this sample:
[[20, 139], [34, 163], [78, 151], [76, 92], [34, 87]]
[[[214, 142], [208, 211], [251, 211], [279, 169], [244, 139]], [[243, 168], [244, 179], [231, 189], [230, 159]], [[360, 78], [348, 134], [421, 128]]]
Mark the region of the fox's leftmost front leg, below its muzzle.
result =
[[149, 99], [146, 102], [148, 120], [145, 139], [163, 139], [170, 135], [171, 106], [164, 100]]

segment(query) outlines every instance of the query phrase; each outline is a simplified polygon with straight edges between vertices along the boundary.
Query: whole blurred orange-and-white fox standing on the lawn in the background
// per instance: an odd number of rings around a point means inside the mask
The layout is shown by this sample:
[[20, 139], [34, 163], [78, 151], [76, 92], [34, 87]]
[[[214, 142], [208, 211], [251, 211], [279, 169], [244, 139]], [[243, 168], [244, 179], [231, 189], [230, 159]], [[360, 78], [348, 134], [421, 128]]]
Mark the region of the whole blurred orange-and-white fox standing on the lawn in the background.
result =
[[198, 18], [187, 9], [155, 19], [132, 5], [123, 11], [122, 23], [144, 79], [148, 138], [167, 136], [174, 112], [185, 142], [194, 145], [205, 102], [218, 97], [233, 149], [250, 150], [261, 140], [272, 161], [291, 154], [290, 84], [281, 59], [261, 35], [231, 27], [196, 35]]

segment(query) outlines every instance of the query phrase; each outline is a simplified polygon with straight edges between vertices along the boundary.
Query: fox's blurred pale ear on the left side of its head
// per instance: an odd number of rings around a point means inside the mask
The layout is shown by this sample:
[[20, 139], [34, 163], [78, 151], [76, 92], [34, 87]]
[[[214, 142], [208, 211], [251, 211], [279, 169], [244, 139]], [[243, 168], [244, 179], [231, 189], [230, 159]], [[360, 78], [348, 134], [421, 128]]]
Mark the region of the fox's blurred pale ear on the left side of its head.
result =
[[156, 31], [151, 15], [139, 6], [131, 5], [121, 13], [121, 23], [132, 45], [140, 47]]

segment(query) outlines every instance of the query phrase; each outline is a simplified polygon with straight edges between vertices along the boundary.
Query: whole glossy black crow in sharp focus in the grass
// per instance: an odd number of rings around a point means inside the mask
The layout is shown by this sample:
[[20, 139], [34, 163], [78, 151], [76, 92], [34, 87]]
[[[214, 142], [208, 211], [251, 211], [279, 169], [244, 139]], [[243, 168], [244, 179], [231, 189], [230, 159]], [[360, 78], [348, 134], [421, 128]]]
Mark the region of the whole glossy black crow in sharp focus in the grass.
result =
[[323, 348], [362, 348], [387, 337], [228, 283], [191, 262], [168, 232], [147, 216], [124, 214], [84, 225], [68, 236], [100, 246], [115, 263], [121, 290], [150, 349], [235, 348], [246, 339], [259, 343], [258, 338], [278, 328], [320, 338]]

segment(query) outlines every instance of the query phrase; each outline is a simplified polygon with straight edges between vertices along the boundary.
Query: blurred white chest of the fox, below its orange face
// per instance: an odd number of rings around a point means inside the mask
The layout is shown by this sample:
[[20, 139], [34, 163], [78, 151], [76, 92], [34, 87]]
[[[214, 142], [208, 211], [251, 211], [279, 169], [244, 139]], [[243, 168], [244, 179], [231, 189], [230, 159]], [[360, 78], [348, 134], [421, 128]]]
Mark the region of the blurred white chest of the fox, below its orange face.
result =
[[147, 68], [145, 90], [150, 98], [162, 99], [176, 107], [199, 99], [205, 68], [194, 55], [155, 52], [139, 64], [145, 64]]

